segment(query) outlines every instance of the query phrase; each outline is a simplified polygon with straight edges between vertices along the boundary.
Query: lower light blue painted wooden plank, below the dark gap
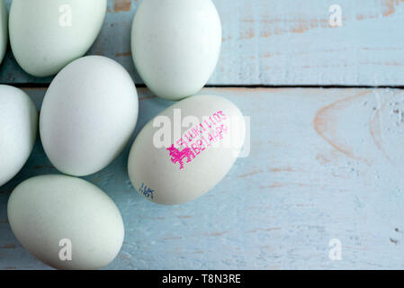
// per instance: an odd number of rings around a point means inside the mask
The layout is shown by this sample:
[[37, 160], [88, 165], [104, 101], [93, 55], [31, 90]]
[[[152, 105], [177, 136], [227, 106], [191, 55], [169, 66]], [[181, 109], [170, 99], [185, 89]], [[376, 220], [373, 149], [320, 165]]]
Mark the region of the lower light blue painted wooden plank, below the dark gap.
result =
[[[44, 89], [26, 89], [38, 107]], [[126, 236], [109, 269], [404, 267], [404, 91], [210, 88], [250, 116], [249, 157], [184, 205], [148, 202], [130, 185], [129, 146], [85, 177], [117, 203]], [[139, 89], [135, 135], [169, 102]], [[48, 268], [20, 246], [6, 217], [16, 184], [58, 173], [36, 144], [0, 187], [0, 269]], [[328, 258], [329, 241], [342, 259]]]

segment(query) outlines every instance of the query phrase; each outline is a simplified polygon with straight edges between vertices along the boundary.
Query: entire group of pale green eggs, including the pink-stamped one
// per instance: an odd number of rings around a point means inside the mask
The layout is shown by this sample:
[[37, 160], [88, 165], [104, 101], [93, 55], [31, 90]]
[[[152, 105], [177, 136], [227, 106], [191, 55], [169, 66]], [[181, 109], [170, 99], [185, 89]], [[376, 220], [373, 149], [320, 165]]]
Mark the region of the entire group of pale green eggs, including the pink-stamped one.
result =
[[[22, 246], [49, 266], [101, 268], [121, 249], [121, 213], [106, 193], [76, 176], [100, 171], [121, 153], [139, 111], [136, 87], [120, 64], [103, 56], [83, 57], [101, 30], [107, 0], [13, 0], [8, 21], [1, 2], [0, 56], [9, 32], [23, 70], [33, 76], [57, 74], [40, 109], [39, 130], [50, 162], [66, 174], [32, 177], [15, 187], [7, 207], [10, 226]], [[128, 172], [134, 188], [152, 202], [196, 199], [218, 184], [238, 157], [240, 148], [215, 146], [230, 132], [244, 141], [238, 107], [216, 95], [188, 97], [210, 78], [220, 42], [220, 17], [211, 0], [139, 4], [131, 34], [139, 75], [157, 96], [181, 100], [157, 117], [173, 123], [179, 110], [184, 120], [197, 120], [164, 147], [156, 145], [155, 121], [139, 132]], [[0, 186], [30, 156], [37, 130], [38, 112], [30, 97], [0, 85]], [[66, 239], [71, 257], [61, 255]]]

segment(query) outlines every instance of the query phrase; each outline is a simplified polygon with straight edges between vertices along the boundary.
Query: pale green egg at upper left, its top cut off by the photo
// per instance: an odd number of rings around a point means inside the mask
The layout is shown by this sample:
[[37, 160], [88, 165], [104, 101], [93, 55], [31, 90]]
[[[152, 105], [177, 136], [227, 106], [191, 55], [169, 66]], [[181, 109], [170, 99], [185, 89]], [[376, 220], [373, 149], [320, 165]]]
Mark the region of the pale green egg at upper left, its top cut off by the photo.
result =
[[25, 72], [51, 76], [82, 57], [103, 25], [106, 0], [13, 0], [10, 43]]

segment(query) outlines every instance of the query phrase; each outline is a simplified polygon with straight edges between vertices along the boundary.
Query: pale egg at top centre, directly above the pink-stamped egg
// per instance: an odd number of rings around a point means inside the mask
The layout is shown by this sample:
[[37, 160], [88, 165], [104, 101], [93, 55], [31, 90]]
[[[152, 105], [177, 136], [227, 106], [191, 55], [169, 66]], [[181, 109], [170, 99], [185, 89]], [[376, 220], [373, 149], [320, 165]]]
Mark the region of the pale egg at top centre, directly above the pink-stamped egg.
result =
[[144, 0], [131, 31], [133, 60], [157, 96], [180, 100], [205, 85], [219, 59], [221, 24], [211, 0]]

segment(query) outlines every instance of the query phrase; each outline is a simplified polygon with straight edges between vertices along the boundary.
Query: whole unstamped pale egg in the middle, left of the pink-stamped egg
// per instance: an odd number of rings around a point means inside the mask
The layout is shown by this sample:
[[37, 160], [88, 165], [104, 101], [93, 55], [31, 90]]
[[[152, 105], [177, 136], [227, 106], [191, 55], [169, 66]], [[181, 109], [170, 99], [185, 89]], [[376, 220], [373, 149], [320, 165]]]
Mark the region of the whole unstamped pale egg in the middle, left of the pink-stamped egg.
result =
[[93, 174], [121, 153], [138, 110], [136, 87], [120, 64], [103, 56], [78, 58], [58, 73], [43, 99], [43, 148], [64, 174]]

